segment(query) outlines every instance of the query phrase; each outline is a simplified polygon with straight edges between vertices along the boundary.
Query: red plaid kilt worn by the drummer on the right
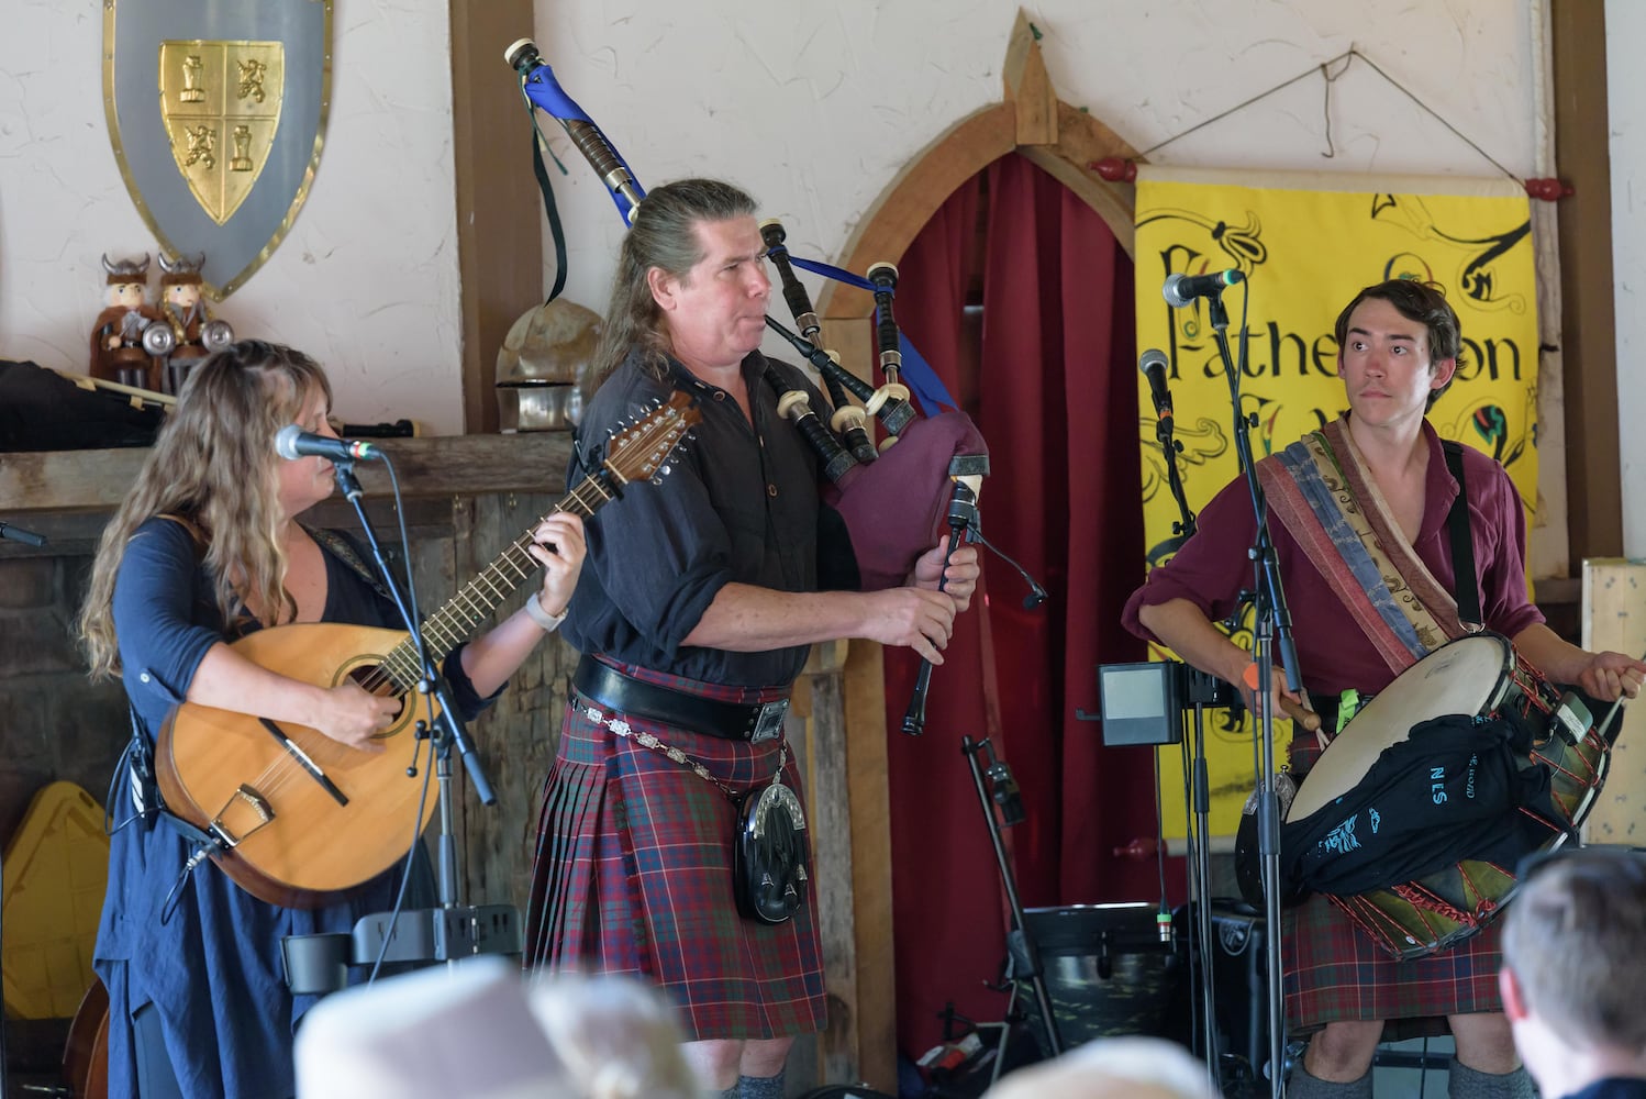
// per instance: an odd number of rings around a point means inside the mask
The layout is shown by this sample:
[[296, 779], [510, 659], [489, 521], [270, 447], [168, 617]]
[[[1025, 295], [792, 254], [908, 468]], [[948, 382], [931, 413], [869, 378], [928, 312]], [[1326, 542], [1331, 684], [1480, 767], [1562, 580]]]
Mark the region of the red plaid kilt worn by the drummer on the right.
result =
[[[1292, 742], [1292, 773], [1320, 757], [1314, 737]], [[1302, 780], [1299, 780], [1302, 781]], [[1452, 949], [1396, 961], [1350, 916], [1315, 893], [1282, 913], [1286, 1023], [1294, 1036], [1343, 1020], [1388, 1020], [1386, 1041], [1445, 1033], [1444, 1015], [1501, 1012], [1501, 925]]]

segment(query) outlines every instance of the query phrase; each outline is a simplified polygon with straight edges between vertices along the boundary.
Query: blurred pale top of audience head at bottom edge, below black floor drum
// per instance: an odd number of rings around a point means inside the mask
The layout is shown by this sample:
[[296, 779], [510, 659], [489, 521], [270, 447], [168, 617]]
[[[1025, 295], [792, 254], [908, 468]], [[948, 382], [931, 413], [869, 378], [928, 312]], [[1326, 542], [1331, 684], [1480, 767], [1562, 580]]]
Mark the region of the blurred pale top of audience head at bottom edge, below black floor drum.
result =
[[1096, 1038], [1001, 1079], [984, 1099], [1215, 1099], [1207, 1066], [1164, 1038]]

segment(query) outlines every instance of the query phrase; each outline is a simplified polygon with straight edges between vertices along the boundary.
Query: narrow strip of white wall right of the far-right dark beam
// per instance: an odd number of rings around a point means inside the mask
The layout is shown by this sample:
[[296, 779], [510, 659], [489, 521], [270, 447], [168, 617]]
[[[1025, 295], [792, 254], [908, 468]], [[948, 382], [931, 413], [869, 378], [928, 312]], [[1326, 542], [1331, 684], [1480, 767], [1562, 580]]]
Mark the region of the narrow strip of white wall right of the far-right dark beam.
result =
[[1623, 553], [1646, 558], [1646, 82], [1636, 46], [1646, 5], [1606, 0], [1606, 107], [1611, 128], [1611, 271], [1618, 332], [1618, 457]]

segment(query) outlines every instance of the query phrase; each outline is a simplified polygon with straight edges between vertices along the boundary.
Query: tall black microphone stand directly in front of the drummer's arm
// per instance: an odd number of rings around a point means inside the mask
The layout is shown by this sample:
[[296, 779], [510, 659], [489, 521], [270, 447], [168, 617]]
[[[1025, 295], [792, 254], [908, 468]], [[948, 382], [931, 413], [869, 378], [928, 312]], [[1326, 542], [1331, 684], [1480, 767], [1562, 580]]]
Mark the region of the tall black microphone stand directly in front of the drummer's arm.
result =
[[[1230, 354], [1230, 314], [1223, 308], [1221, 291], [1213, 291], [1207, 299], [1207, 306], [1211, 332], [1230, 382], [1230, 400], [1234, 406], [1234, 451], [1239, 456], [1241, 474], [1246, 477], [1253, 513], [1258, 518], [1258, 538], [1251, 550], [1248, 550], [1254, 573], [1253, 589], [1256, 592], [1253, 660], [1258, 670], [1254, 694], [1258, 696], [1258, 737], [1261, 745], [1258, 852], [1262, 862], [1262, 908], [1269, 962], [1269, 1094], [1274, 1099], [1281, 1099], [1286, 1094], [1286, 999], [1281, 981], [1281, 801], [1274, 790], [1274, 645], [1281, 648], [1281, 665], [1286, 670], [1287, 688], [1300, 691], [1302, 679], [1297, 671], [1297, 642], [1292, 635], [1292, 615], [1286, 605], [1286, 592], [1281, 587], [1281, 569], [1274, 556], [1274, 540], [1269, 536], [1269, 505], [1264, 498], [1262, 485], [1258, 482], [1258, 467], [1251, 456], [1248, 431], [1256, 426], [1256, 418], [1241, 411], [1241, 375], [1234, 365], [1234, 357]], [[1246, 362], [1244, 349], [1246, 341], [1243, 336], [1241, 367]]]

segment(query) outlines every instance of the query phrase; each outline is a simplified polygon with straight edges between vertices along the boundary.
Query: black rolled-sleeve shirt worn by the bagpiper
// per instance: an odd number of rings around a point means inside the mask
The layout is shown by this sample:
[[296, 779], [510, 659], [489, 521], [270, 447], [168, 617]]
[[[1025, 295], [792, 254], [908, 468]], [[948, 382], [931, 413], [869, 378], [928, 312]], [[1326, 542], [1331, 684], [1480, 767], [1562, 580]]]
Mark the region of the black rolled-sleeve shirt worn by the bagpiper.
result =
[[[729, 582], [818, 589], [818, 531], [835, 530], [833, 513], [820, 522], [816, 456], [779, 415], [767, 365], [805, 388], [815, 410], [826, 410], [800, 370], [760, 352], [742, 362], [752, 423], [731, 393], [680, 362], [670, 360], [660, 382], [635, 354], [584, 408], [568, 484], [599, 467], [611, 431], [673, 390], [693, 393], [703, 413], [668, 472], [625, 487], [588, 520], [588, 559], [561, 627], [584, 653], [729, 686], [780, 686], [800, 673], [808, 645], [764, 653], [681, 645]], [[836, 535], [825, 541], [826, 554], [841, 551]]]

